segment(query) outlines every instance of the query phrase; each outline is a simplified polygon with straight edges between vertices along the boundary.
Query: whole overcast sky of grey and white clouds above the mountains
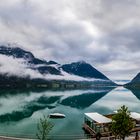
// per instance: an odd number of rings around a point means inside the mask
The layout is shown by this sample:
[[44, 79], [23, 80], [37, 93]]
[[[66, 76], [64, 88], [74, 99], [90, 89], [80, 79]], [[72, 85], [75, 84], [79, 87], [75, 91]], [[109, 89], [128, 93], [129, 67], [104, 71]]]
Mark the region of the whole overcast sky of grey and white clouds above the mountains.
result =
[[132, 79], [140, 72], [139, 9], [140, 0], [1, 0], [0, 42]]

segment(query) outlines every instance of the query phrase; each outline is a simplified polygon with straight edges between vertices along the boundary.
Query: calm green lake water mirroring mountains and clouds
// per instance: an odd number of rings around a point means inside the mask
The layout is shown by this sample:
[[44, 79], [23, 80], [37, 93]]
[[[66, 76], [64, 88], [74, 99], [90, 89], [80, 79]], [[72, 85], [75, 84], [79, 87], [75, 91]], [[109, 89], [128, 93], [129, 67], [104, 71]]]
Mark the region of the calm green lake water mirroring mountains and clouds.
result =
[[67, 91], [0, 91], [0, 134], [35, 137], [37, 122], [43, 115], [59, 112], [64, 119], [51, 119], [51, 139], [84, 138], [84, 113], [112, 113], [126, 105], [140, 113], [140, 91], [100, 88]]

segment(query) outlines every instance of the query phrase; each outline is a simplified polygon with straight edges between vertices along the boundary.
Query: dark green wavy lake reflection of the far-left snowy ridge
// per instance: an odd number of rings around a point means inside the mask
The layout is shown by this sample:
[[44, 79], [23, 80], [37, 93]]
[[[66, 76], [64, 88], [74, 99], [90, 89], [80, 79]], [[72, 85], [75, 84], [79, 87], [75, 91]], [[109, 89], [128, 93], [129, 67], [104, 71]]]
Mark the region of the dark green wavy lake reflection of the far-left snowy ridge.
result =
[[52, 97], [41, 96], [39, 99], [27, 103], [27, 105], [25, 105], [22, 110], [13, 111], [11, 113], [0, 115], [0, 122], [19, 121], [24, 118], [32, 116], [32, 114], [35, 111], [45, 108], [52, 109], [55, 106], [51, 104], [55, 103], [59, 99], [60, 96], [52, 96]]

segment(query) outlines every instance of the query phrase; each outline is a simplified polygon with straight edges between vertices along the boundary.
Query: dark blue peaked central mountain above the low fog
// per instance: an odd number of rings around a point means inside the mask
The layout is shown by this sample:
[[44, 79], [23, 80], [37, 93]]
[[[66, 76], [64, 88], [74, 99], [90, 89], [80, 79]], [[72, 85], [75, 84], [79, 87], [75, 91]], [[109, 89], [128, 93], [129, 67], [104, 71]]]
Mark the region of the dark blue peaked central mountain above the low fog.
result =
[[95, 69], [90, 64], [84, 61], [74, 62], [71, 64], [65, 64], [65, 65], [62, 65], [61, 68], [69, 74], [74, 74], [74, 75], [82, 76], [85, 78], [109, 80], [105, 75], [103, 75], [97, 69]]

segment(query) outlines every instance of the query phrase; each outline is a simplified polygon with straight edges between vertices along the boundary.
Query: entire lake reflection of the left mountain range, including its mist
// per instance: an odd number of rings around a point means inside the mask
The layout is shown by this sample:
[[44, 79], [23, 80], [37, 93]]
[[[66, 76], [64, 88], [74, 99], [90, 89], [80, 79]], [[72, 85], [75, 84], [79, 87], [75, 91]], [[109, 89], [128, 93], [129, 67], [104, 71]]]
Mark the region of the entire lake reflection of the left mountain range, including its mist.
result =
[[[97, 88], [88, 91], [1, 90], [0, 122], [20, 121], [45, 108], [51, 110], [59, 105], [84, 109], [110, 92], [113, 88]], [[11, 110], [5, 102], [11, 100]], [[15, 108], [14, 108], [15, 107]]]

